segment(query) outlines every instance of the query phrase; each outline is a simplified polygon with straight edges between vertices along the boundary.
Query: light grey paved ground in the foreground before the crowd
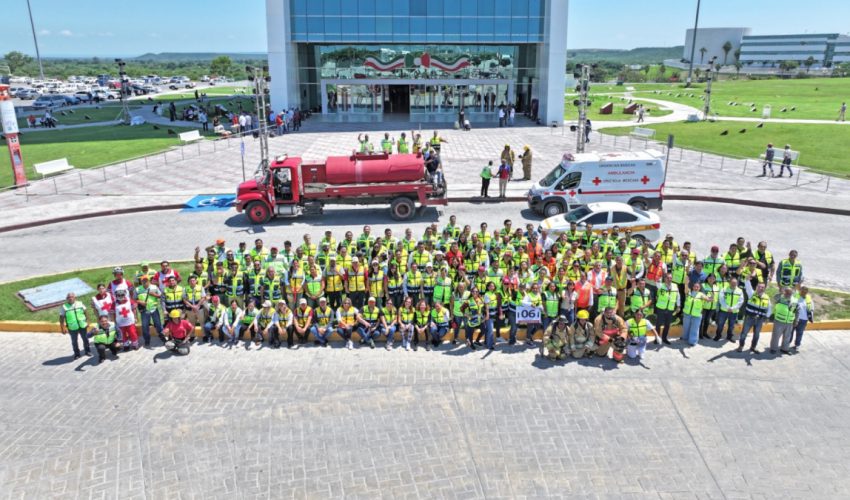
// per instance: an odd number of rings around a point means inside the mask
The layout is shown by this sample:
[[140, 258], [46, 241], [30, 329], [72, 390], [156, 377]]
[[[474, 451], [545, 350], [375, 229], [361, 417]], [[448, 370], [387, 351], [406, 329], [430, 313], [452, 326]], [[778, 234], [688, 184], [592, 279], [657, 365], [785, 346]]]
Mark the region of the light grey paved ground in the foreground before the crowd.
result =
[[[0, 334], [2, 498], [841, 498], [848, 332], [640, 364], [313, 346], [95, 366]], [[763, 339], [762, 342], [765, 340]]]

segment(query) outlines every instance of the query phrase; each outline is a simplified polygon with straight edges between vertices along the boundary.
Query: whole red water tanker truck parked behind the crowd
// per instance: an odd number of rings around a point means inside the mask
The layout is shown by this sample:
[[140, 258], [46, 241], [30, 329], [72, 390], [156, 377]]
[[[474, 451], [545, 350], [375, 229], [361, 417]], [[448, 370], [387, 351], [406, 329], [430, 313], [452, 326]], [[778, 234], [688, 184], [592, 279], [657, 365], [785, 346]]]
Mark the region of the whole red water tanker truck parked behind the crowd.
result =
[[420, 154], [353, 154], [324, 163], [277, 157], [236, 191], [236, 210], [254, 224], [278, 215], [320, 214], [327, 204], [389, 204], [393, 219], [408, 220], [417, 205], [445, 205], [446, 186], [426, 173]]

